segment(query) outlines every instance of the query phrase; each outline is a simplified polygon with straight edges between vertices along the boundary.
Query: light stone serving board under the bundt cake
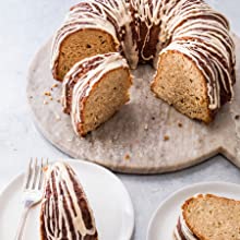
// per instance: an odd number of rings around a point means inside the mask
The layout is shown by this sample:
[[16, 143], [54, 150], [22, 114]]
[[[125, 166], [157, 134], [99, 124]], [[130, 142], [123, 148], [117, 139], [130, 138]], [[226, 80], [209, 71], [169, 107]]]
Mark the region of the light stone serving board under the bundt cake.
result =
[[[29, 68], [27, 98], [34, 121], [44, 136], [65, 154], [118, 172], [173, 171], [216, 154], [240, 167], [240, 39], [235, 36], [235, 41], [238, 58], [235, 100], [224, 106], [209, 125], [190, 120], [155, 98], [149, 89], [154, 70], [140, 65], [132, 72], [131, 101], [85, 139], [76, 136], [70, 117], [62, 113], [57, 101], [61, 83], [52, 79], [49, 69], [50, 41], [40, 48]], [[50, 91], [56, 83], [58, 87]], [[45, 96], [45, 92], [51, 92], [53, 99]]]

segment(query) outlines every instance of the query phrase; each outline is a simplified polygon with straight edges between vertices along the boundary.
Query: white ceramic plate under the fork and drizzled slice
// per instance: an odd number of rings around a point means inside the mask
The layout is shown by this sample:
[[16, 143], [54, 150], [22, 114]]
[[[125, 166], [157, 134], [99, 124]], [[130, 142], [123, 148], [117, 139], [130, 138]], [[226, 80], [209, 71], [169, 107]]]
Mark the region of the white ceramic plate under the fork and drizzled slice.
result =
[[[67, 161], [67, 160], [65, 160]], [[82, 160], [68, 160], [80, 177], [94, 211], [100, 240], [130, 240], [134, 212], [122, 182], [109, 170]], [[14, 239], [21, 216], [23, 175], [16, 177], [0, 194], [0, 239]], [[39, 239], [39, 205], [26, 221], [24, 240]]]

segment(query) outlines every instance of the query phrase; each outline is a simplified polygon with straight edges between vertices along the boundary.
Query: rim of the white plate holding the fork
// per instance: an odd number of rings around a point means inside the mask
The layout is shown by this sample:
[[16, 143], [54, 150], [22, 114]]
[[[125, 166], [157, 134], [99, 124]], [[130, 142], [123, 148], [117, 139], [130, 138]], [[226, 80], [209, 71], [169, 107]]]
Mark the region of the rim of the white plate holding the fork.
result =
[[[128, 217], [128, 219], [130, 219], [131, 224], [129, 224], [129, 230], [125, 232], [125, 237], [128, 240], [131, 240], [132, 236], [133, 236], [133, 232], [134, 232], [134, 227], [135, 227], [135, 212], [134, 212], [134, 207], [133, 207], [133, 203], [132, 203], [132, 199], [129, 194], [129, 191], [128, 189], [125, 188], [124, 183], [121, 181], [121, 179], [116, 176], [113, 172], [111, 172], [109, 169], [98, 165], [98, 164], [95, 164], [95, 163], [92, 163], [92, 161], [86, 161], [84, 159], [76, 159], [76, 158], [59, 158], [58, 160], [50, 160], [49, 163], [55, 163], [55, 161], [67, 161], [67, 163], [74, 163], [74, 164], [84, 164], [84, 165], [91, 165], [95, 168], [98, 168], [99, 170], [103, 170], [105, 173], [108, 173], [118, 183], [120, 183], [122, 185], [122, 189], [124, 190], [124, 195], [125, 195], [125, 200], [128, 201], [129, 203], [129, 209], [131, 211], [130, 212], [130, 215]], [[14, 182], [21, 178], [22, 176], [24, 176], [24, 171], [21, 171], [20, 173], [15, 175], [14, 177], [12, 177], [10, 179], [10, 181], [2, 188], [2, 190], [0, 191], [0, 201], [3, 199], [3, 195], [7, 193], [7, 191], [10, 189], [10, 187], [12, 184], [14, 184]]]

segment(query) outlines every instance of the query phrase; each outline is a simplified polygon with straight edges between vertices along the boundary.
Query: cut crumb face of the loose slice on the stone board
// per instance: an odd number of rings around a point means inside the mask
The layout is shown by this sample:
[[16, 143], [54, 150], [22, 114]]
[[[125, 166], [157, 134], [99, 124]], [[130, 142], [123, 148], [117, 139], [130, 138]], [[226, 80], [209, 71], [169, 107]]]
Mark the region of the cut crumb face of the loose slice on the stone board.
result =
[[[120, 81], [116, 82], [116, 74], [119, 75], [117, 79], [121, 79]], [[124, 81], [123, 81], [124, 79]], [[121, 84], [122, 82], [122, 84]], [[89, 113], [88, 110], [92, 110], [95, 104], [95, 99], [99, 96], [97, 92], [101, 92], [103, 87], [112, 84], [113, 88], [109, 89], [110, 98], [105, 97], [101, 100], [103, 108], [97, 110], [97, 112], [93, 113], [94, 117], [97, 117], [97, 121], [95, 121]], [[81, 119], [82, 122], [79, 123], [76, 131], [82, 135], [85, 136], [88, 132], [96, 130], [100, 124], [105, 123], [109, 120], [115, 113], [117, 113], [122, 106], [124, 106], [130, 100], [129, 89], [132, 85], [132, 79], [130, 77], [130, 72], [127, 68], [118, 68], [109, 71], [105, 75], [103, 75], [101, 80], [97, 82], [92, 91], [91, 95], [84, 99], [82, 99], [82, 111], [81, 111]], [[121, 88], [121, 89], [119, 89]], [[107, 106], [107, 108], [106, 108]], [[107, 115], [103, 116], [101, 112], [104, 110], [108, 110]], [[106, 111], [105, 111], [106, 113]]]

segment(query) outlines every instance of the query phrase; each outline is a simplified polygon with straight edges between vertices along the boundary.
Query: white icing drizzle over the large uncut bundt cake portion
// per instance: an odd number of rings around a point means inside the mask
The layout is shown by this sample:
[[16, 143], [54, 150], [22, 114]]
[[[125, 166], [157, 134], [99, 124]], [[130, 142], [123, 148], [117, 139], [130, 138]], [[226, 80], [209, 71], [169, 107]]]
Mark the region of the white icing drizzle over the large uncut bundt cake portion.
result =
[[[151, 43], [154, 27], [159, 28], [156, 46]], [[52, 71], [62, 40], [83, 28], [109, 33], [132, 69], [141, 59], [153, 60], [157, 69], [167, 51], [188, 56], [206, 79], [211, 110], [220, 108], [223, 93], [233, 97], [236, 57], [229, 24], [203, 0], [83, 0], [56, 35]]]

